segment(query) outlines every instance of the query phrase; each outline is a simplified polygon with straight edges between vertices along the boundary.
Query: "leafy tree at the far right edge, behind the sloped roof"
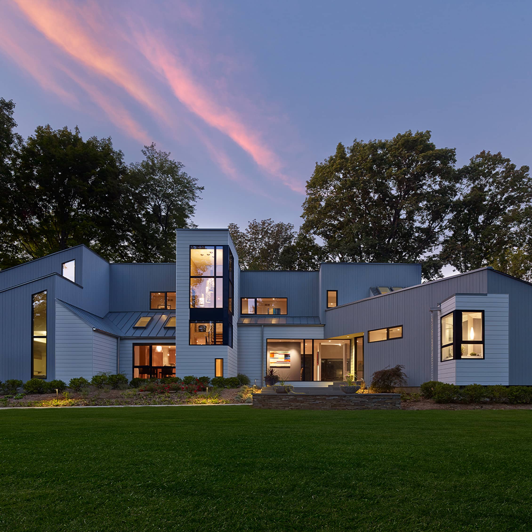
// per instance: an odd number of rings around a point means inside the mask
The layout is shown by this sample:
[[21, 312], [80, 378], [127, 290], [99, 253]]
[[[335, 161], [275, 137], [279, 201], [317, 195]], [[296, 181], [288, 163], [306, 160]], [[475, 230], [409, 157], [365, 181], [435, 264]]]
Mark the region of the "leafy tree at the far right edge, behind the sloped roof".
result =
[[459, 170], [461, 194], [453, 204], [440, 258], [459, 271], [487, 265], [529, 276], [532, 181], [501, 153], [480, 152]]

